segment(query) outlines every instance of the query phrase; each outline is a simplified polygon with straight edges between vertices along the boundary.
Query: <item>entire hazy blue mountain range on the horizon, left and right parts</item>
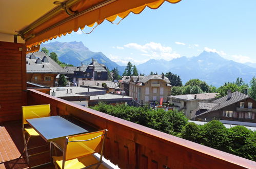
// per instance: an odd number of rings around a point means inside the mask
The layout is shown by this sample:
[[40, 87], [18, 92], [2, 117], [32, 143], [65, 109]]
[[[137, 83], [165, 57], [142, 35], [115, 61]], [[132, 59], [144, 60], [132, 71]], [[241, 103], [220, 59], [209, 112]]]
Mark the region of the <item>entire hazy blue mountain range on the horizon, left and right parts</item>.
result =
[[[89, 64], [92, 58], [96, 59], [100, 64], [104, 64], [109, 70], [119, 69], [120, 75], [123, 74], [125, 66], [120, 66], [116, 62], [111, 61], [102, 52], [92, 52], [84, 46], [82, 42], [72, 41], [70, 43], [53, 43], [42, 44], [41, 48], [47, 48], [49, 52], [55, 52], [58, 59], [74, 66]], [[133, 64], [133, 63], [132, 63]], [[256, 76], [256, 65], [250, 62], [241, 64], [232, 60], [227, 60], [217, 53], [204, 51], [199, 56], [180, 57], [170, 61], [164, 59], [150, 59], [137, 67], [138, 72], [145, 75], [150, 72], [171, 72], [180, 75], [183, 84], [189, 79], [199, 78], [206, 81], [209, 85], [220, 87], [224, 82], [233, 82], [237, 77], [242, 77], [247, 83]]]

